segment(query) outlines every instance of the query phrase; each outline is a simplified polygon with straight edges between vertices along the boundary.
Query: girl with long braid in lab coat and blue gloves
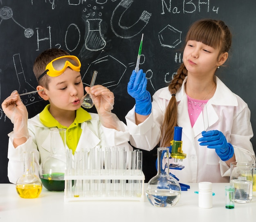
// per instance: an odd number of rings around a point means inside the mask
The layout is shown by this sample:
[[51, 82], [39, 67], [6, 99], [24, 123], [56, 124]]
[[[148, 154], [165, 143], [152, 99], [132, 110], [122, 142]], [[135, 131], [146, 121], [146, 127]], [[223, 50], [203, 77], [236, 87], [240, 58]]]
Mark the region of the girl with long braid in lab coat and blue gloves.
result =
[[184, 169], [171, 173], [180, 182], [229, 182], [232, 161], [255, 164], [250, 110], [215, 76], [228, 58], [231, 33], [222, 21], [199, 20], [185, 42], [177, 75], [155, 92], [152, 104], [145, 73], [132, 72], [128, 93], [135, 98], [135, 107], [126, 116], [130, 142], [145, 150], [158, 143], [168, 147], [174, 126], [180, 126]]

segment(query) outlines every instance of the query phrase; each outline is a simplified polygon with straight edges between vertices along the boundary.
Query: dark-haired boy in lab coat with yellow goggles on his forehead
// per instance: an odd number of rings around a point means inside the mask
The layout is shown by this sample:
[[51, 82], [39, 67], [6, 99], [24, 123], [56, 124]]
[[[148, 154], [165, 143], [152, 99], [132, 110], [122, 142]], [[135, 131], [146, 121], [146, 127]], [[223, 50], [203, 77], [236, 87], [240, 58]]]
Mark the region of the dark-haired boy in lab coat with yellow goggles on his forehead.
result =
[[[92, 147], [125, 147], [129, 132], [126, 125], [111, 113], [114, 94], [108, 88], [96, 85], [91, 88], [94, 105], [98, 114], [88, 113], [81, 108], [84, 95], [80, 74], [81, 63], [61, 49], [48, 49], [35, 60], [33, 71], [38, 80], [40, 97], [49, 100], [45, 109], [28, 119], [25, 105], [15, 90], [2, 103], [2, 110], [13, 123], [9, 135], [8, 178], [12, 183], [23, 173], [24, 151], [34, 151], [35, 172], [39, 164], [50, 154], [50, 128], [65, 128], [67, 146], [75, 151]], [[85, 87], [88, 92], [90, 87]]]

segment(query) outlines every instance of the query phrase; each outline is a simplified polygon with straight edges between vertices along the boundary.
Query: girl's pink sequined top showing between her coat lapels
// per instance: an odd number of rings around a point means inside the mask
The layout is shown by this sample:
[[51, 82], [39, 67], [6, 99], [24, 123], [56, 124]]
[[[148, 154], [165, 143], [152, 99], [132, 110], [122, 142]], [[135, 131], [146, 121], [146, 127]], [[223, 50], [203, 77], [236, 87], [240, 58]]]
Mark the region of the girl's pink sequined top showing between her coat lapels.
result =
[[189, 111], [189, 119], [191, 126], [195, 124], [195, 121], [198, 119], [198, 116], [202, 112], [204, 105], [208, 102], [208, 100], [198, 100], [192, 99], [188, 95], [188, 111]]

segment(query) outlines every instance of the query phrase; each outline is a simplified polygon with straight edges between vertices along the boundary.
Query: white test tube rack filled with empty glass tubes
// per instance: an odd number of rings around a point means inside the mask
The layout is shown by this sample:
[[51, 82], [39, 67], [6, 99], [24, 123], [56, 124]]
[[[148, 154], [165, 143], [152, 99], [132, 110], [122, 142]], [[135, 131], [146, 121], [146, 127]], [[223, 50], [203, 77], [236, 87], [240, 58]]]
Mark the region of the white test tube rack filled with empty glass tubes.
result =
[[65, 202], [145, 201], [141, 151], [127, 153], [117, 149], [103, 153], [99, 149], [90, 149], [76, 153], [73, 160], [72, 153], [67, 156]]

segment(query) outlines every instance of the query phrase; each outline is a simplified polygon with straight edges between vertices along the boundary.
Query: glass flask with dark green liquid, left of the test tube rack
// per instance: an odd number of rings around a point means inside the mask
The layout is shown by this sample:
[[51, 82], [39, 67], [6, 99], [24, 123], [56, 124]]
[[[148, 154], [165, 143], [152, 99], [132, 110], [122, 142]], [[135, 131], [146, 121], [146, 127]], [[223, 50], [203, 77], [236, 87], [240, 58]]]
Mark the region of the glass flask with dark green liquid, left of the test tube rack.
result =
[[64, 174], [67, 169], [66, 129], [50, 130], [52, 154], [40, 164], [40, 179], [47, 190], [64, 191]]

